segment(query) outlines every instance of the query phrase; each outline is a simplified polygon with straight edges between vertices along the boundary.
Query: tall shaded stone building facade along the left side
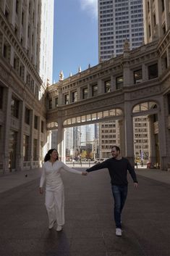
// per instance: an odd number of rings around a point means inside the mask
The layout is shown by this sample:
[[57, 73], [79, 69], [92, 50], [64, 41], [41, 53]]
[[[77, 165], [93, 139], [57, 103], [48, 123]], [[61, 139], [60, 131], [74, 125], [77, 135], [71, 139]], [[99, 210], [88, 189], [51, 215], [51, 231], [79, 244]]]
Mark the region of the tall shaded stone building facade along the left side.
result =
[[41, 166], [48, 146], [46, 84], [40, 76], [42, 4], [0, 1], [1, 172]]

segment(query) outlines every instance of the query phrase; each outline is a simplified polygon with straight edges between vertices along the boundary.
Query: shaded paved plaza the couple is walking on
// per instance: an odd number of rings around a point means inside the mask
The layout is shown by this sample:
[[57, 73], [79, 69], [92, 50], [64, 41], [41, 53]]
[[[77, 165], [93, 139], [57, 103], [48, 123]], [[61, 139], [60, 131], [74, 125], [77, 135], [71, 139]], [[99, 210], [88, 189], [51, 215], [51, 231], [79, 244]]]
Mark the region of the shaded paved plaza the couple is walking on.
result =
[[129, 178], [122, 237], [115, 235], [107, 170], [62, 174], [66, 223], [59, 233], [48, 230], [40, 175], [35, 169], [0, 176], [1, 256], [170, 255], [170, 173], [138, 169], [137, 190]]

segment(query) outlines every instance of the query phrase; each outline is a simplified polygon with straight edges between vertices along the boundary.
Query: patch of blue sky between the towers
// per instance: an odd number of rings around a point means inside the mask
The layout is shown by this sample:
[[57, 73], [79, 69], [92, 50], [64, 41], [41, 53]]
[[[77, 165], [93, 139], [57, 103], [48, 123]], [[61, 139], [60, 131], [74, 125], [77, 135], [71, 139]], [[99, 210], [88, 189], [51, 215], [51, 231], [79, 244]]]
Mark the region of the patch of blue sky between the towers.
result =
[[53, 80], [98, 64], [97, 0], [54, 0]]

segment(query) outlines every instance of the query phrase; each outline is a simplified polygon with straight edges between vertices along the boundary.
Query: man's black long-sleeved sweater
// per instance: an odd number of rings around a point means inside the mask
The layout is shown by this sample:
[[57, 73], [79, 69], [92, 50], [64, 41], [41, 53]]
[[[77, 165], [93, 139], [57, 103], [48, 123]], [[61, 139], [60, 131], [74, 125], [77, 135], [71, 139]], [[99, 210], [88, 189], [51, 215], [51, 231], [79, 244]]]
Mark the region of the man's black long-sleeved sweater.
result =
[[114, 157], [101, 162], [100, 164], [94, 165], [87, 169], [87, 172], [92, 172], [93, 170], [99, 170], [103, 168], [108, 168], [109, 174], [111, 176], [111, 184], [116, 186], [126, 186], [127, 185], [127, 170], [134, 182], [137, 182], [136, 174], [132, 165], [130, 165], [127, 158], [122, 157], [121, 160], [116, 160]]

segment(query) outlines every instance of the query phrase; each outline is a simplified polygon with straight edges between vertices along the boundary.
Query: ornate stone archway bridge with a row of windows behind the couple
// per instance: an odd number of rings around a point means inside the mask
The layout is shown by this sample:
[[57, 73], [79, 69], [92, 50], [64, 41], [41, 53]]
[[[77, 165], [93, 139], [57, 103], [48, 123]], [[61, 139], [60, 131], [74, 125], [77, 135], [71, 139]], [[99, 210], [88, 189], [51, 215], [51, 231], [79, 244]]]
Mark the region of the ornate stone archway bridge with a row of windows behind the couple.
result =
[[[48, 87], [51, 108], [48, 109], [47, 123], [58, 123], [58, 149], [62, 157], [64, 128], [119, 120], [122, 154], [134, 164], [134, 120], [143, 117], [145, 123], [147, 117], [149, 161], [163, 170], [169, 169], [169, 60], [167, 67], [163, 65], [164, 53], [169, 53], [169, 38], [170, 30], [167, 30], [159, 40], [131, 51], [126, 41], [124, 54], [119, 57], [101, 62]], [[169, 59], [170, 54], [166, 57]], [[77, 102], [72, 96], [75, 92]], [[55, 107], [56, 99], [58, 107]]]

